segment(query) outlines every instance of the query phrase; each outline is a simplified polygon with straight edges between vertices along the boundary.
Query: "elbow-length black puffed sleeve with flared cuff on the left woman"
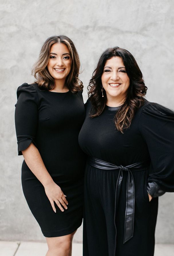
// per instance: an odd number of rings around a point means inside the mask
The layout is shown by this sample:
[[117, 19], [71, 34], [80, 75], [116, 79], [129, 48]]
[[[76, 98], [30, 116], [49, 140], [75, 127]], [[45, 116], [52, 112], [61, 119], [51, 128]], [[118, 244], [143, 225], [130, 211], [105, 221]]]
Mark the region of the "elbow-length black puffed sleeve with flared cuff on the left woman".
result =
[[32, 85], [22, 84], [17, 89], [15, 104], [15, 127], [18, 144], [18, 155], [28, 148], [31, 142], [36, 146], [36, 130], [38, 123], [38, 96]]

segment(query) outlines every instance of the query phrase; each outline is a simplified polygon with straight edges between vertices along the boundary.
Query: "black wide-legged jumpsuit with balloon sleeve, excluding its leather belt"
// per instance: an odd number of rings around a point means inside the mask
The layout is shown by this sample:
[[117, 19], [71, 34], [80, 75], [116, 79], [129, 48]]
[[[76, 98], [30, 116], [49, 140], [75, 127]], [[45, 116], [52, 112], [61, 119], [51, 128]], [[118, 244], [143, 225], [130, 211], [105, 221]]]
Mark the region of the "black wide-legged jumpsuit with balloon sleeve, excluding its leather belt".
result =
[[[83, 255], [153, 256], [158, 196], [174, 191], [174, 113], [145, 100], [130, 128], [122, 134], [113, 121], [119, 107], [106, 106], [95, 118], [89, 117], [90, 101], [86, 108], [86, 119], [79, 133], [79, 145], [89, 156], [84, 185]], [[92, 166], [91, 157], [120, 166], [121, 182], [118, 180], [120, 170]], [[138, 162], [146, 164], [132, 171], [133, 233], [132, 238], [124, 242], [129, 174], [126, 167]], [[119, 186], [120, 194], [116, 194]], [[153, 196], [150, 202], [147, 186]]]

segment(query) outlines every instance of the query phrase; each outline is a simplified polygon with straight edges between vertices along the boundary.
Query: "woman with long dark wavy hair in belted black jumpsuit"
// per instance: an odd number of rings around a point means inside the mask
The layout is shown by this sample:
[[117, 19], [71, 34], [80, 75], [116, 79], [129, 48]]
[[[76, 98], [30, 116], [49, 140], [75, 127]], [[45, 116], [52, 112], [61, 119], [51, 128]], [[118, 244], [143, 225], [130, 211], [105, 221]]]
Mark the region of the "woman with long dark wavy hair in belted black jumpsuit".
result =
[[79, 143], [85, 171], [84, 256], [153, 256], [158, 196], [174, 191], [174, 113], [144, 99], [125, 49], [103, 52]]

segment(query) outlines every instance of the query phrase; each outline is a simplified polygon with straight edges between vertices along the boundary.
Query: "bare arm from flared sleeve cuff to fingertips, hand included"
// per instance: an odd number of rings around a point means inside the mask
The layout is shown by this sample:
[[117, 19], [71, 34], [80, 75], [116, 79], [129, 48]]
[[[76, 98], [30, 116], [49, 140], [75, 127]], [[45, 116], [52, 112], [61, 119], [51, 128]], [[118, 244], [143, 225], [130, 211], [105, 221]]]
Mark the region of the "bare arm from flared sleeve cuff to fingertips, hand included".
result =
[[62, 206], [67, 209], [68, 202], [65, 198], [65, 195], [63, 194], [61, 188], [53, 181], [52, 177], [48, 173], [36, 146], [31, 143], [28, 148], [22, 151], [22, 154], [24, 156], [26, 164], [28, 165], [32, 173], [34, 173], [37, 179], [44, 186], [45, 193], [50, 200], [53, 211], [56, 212], [54, 202], [61, 211], [64, 211]]

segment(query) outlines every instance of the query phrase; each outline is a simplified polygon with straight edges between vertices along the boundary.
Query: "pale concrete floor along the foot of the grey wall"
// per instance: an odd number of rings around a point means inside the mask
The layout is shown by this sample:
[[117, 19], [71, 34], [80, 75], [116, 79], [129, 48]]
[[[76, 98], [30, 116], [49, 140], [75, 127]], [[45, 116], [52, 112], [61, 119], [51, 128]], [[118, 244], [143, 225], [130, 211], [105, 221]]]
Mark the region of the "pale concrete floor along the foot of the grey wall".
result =
[[[45, 256], [46, 251], [44, 242], [0, 241], [1, 256]], [[73, 243], [72, 256], [82, 256], [82, 244]], [[156, 244], [154, 256], [174, 256], [174, 244]]]

